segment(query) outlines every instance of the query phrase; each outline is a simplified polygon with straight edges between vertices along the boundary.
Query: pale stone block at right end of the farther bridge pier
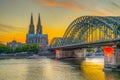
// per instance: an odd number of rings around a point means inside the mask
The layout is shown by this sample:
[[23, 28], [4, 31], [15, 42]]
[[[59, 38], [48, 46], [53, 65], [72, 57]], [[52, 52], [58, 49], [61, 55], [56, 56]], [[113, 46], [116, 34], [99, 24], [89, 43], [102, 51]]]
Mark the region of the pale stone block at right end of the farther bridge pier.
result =
[[74, 55], [76, 58], [79, 58], [79, 59], [85, 59], [86, 57], [86, 49], [83, 48], [83, 49], [76, 49], [74, 50]]

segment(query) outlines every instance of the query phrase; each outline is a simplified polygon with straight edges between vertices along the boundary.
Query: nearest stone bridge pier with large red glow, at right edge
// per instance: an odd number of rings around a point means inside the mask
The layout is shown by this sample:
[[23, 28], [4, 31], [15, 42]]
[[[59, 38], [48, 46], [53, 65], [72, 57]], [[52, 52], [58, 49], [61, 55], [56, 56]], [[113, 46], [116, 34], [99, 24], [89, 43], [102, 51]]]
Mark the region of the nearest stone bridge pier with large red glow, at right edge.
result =
[[120, 71], [120, 49], [117, 47], [104, 48], [104, 70]]

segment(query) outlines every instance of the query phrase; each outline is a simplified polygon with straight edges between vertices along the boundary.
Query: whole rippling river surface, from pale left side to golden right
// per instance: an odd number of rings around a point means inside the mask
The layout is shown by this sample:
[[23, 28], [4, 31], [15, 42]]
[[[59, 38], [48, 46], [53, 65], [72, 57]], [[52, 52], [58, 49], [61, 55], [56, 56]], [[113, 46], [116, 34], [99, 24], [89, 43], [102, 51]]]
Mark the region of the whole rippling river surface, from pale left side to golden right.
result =
[[0, 80], [120, 80], [120, 73], [104, 72], [104, 59], [81, 64], [52, 59], [0, 60]]

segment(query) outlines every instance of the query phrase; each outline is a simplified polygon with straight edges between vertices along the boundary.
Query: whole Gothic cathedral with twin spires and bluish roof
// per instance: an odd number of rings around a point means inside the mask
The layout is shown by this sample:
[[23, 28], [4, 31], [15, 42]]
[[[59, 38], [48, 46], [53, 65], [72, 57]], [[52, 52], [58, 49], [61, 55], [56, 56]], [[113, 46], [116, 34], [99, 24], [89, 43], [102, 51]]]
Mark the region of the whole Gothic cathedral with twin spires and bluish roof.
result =
[[45, 48], [48, 45], [48, 35], [42, 34], [42, 25], [41, 25], [41, 20], [40, 20], [40, 14], [38, 17], [36, 33], [35, 33], [35, 27], [34, 27], [34, 23], [33, 23], [33, 15], [31, 14], [29, 31], [26, 36], [26, 44], [38, 44], [42, 48]]

